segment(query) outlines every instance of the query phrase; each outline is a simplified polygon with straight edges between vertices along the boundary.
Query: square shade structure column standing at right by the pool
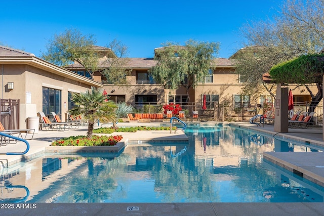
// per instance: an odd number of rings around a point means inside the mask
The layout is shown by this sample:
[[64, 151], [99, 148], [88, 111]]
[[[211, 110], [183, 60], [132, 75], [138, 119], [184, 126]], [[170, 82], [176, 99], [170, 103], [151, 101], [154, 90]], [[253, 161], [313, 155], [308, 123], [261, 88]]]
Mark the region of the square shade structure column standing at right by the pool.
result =
[[276, 90], [274, 131], [288, 133], [288, 87], [281, 84], [277, 84]]

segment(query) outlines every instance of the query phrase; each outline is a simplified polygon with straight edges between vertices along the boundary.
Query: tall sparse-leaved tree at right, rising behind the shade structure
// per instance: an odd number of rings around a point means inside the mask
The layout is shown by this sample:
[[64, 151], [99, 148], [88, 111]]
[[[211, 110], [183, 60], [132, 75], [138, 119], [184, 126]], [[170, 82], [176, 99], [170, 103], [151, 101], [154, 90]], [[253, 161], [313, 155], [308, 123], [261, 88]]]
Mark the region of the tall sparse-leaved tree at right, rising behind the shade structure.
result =
[[[323, 0], [288, 0], [272, 20], [250, 22], [241, 29], [247, 42], [233, 58], [238, 59], [237, 73], [247, 80], [244, 91], [261, 86], [274, 97], [273, 85], [262, 81], [262, 76], [272, 66], [321, 51], [324, 47], [323, 7]], [[309, 88], [307, 90], [310, 92]]]

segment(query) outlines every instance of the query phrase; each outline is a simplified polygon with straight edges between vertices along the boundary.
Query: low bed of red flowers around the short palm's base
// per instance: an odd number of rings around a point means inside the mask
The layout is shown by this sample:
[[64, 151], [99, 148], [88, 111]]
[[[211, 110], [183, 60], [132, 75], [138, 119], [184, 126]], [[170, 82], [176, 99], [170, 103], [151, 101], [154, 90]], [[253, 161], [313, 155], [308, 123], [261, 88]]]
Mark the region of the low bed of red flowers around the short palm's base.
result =
[[72, 136], [52, 142], [52, 146], [114, 146], [123, 136], [97, 136], [93, 135], [91, 139], [87, 136]]

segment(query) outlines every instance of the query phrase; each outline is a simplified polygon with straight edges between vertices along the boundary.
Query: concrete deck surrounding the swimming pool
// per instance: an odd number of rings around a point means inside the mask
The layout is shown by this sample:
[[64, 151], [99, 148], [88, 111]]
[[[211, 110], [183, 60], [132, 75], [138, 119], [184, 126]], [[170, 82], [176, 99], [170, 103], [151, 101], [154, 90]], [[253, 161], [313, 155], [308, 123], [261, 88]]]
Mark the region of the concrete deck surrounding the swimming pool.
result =
[[[131, 126], [131, 125], [159, 125], [160, 122], [152, 123], [118, 123], [118, 126]], [[215, 124], [216, 122], [201, 122], [201, 124]], [[264, 127], [256, 127], [248, 122], [235, 122], [234, 126], [248, 128], [262, 133], [270, 134], [278, 138], [297, 139], [301, 143], [306, 143], [324, 147], [322, 141], [321, 128], [312, 129], [289, 129], [289, 133], [275, 133], [272, 125], [265, 125]], [[105, 125], [104, 125], [105, 126]], [[109, 125], [107, 125], [109, 126]], [[49, 146], [53, 140], [75, 136], [85, 135], [87, 127], [83, 126], [76, 130], [69, 130], [65, 132], [39, 132], [35, 134], [33, 140], [28, 140], [30, 143], [30, 154], [36, 154], [37, 151], [44, 151], [46, 146]], [[121, 133], [118, 133], [121, 134]], [[177, 134], [181, 136], [178, 131]], [[163, 139], [170, 135], [166, 134], [151, 134], [154, 138], [161, 136]], [[126, 136], [123, 135], [123, 136]], [[131, 139], [143, 140], [147, 137], [141, 132], [136, 135], [132, 133], [129, 135]], [[172, 136], [172, 135], [170, 135]], [[172, 139], [172, 138], [171, 138]], [[15, 151], [24, 151], [25, 145], [13, 144]], [[20, 146], [18, 146], [20, 145]], [[12, 146], [0, 147], [3, 149], [13, 148]], [[287, 155], [285, 155], [285, 154]], [[297, 154], [296, 154], [297, 153]], [[316, 153], [316, 154], [312, 154]], [[311, 155], [310, 155], [311, 154]], [[269, 155], [269, 160], [274, 163], [282, 163], [287, 169], [302, 168], [303, 174], [318, 175], [324, 178], [324, 152], [271, 152], [265, 153]], [[310, 156], [309, 156], [310, 155]], [[0, 155], [0, 159], [4, 159], [9, 155]], [[10, 156], [12, 157], [12, 156]], [[18, 156], [21, 157], [21, 156]], [[0, 160], [1, 161], [1, 160]], [[314, 162], [312, 162], [314, 161]], [[280, 165], [280, 164], [278, 164]], [[318, 166], [318, 167], [316, 167]], [[323, 166], [323, 167], [321, 167]], [[297, 169], [296, 169], [297, 168]], [[318, 168], [318, 171], [315, 169]], [[323, 180], [324, 181], [324, 180]], [[133, 208], [130, 208], [134, 206]], [[36, 203], [36, 208], [17, 208], [16, 204], [14, 209], [0, 209], [0, 212], [6, 215], [324, 215], [324, 203]]]

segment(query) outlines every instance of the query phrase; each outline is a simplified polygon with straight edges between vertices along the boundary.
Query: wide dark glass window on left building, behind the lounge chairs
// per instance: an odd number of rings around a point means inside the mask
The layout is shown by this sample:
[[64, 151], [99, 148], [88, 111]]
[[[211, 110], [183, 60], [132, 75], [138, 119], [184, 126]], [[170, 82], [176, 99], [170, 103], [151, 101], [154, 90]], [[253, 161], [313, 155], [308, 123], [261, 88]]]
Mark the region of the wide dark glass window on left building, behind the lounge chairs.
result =
[[61, 91], [43, 87], [43, 112], [49, 115], [50, 112], [61, 113]]

